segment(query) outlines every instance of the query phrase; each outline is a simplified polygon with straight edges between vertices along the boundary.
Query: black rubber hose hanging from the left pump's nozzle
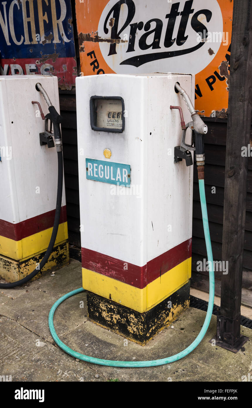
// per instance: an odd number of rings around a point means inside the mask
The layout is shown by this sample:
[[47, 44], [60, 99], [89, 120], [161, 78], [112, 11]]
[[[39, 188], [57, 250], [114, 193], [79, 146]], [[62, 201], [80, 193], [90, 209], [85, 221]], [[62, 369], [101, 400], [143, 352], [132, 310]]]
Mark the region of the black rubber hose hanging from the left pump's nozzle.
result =
[[57, 152], [58, 156], [58, 187], [57, 187], [57, 201], [56, 201], [56, 211], [55, 211], [55, 217], [54, 217], [54, 224], [53, 224], [53, 232], [51, 235], [51, 239], [48, 245], [48, 248], [46, 250], [46, 253], [39, 263], [39, 266], [37, 266], [33, 272], [29, 273], [26, 277], [23, 279], [17, 281], [17, 282], [11, 282], [11, 283], [0, 283], [0, 288], [1, 289], [9, 289], [9, 288], [15, 288], [16, 286], [20, 286], [29, 280], [31, 280], [34, 276], [36, 276], [42, 268], [45, 266], [46, 262], [48, 261], [48, 258], [50, 256], [50, 253], [53, 251], [53, 246], [55, 244], [55, 240], [57, 237], [58, 233], [58, 228], [59, 228], [59, 218], [60, 218], [60, 213], [61, 213], [61, 200], [62, 200], [62, 189], [63, 189], [63, 156], [62, 156], [62, 151]]

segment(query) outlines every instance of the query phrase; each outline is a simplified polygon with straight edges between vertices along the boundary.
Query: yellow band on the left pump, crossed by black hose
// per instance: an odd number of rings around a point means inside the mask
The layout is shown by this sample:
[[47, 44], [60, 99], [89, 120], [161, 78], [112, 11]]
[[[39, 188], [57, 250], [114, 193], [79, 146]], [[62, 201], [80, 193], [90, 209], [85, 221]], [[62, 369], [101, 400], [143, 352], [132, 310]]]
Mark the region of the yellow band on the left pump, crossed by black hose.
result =
[[[53, 227], [22, 238], [20, 241], [0, 236], [0, 254], [17, 261], [24, 261], [33, 255], [46, 251], [52, 231]], [[63, 222], [59, 224], [55, 245], [66, 241], [66, 239], [68, 239], [67, 222]]]

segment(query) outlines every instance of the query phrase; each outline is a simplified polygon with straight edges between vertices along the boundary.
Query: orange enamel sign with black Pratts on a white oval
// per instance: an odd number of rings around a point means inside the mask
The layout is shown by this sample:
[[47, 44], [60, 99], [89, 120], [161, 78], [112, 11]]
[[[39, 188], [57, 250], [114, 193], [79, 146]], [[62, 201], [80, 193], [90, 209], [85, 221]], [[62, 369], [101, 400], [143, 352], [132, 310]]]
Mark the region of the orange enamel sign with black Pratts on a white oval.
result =
[[196, 108], [225, 115], [230, 0], [82, 0], [76, 14], [82, 75], [194, 73]]

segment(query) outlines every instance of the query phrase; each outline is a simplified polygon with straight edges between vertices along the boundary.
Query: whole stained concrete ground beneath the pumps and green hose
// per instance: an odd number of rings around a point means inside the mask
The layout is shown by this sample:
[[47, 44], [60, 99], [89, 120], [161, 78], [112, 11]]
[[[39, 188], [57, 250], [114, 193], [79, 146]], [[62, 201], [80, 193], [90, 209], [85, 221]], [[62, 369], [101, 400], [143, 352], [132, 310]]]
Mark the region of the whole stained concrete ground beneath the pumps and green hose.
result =
[[[27, 286], [0, 291], [0, 375], [12, 381], [244, 381], [252, 374], [252, 330], [237, 354], [209, 343], [216, 334], [216, 316], [206, 336], [188, 356], [151, 368], [113, 368], [76, 361], [55, 345], [48, 313], [55, 301], [81, 287], [81, 264], [71, 260], [55, 273]], [[206, 313], [189, 308], [172, 326], [139, 346], [89, 321], [85, 293], [67, 299], [55, 312], [60, 339], [86, 355], [104, 359], [151, 360], [178, 353], [197, 337]], [[83, 306], [84, 307], [80, 307]]]

